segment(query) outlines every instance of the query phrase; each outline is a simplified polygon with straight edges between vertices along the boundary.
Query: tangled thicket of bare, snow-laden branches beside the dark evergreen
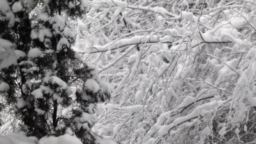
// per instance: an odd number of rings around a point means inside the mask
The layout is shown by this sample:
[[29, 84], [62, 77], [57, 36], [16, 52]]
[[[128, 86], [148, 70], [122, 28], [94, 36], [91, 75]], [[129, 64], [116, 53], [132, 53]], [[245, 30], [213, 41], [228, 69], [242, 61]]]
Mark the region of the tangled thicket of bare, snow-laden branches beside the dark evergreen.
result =
[[90, 6], [76, 51], [114, 87], [95, 131], [120, 144], [256, 142], [254, 0]]

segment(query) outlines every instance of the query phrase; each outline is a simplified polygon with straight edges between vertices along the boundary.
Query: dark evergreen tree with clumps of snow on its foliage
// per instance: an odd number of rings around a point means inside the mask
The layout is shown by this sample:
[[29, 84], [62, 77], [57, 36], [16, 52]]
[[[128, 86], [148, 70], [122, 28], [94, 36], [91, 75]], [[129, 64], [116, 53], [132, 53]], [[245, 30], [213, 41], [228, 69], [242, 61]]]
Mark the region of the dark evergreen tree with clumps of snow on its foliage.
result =
[[[70, 22], [88, 10], [87, 0], [3, 0], [0, 5], [0, 40], [10, 43], [0, 46], [3, 105], [13, 107], [28, 136], [59, 136], [71, 128], [84, 144], [93, 143], [93, 109], [110, 91], [97, 69], [71, 48]], [[7, 64], [7, 58], [16, 59]], [[64, 108], [72, 111], [62, 115]]]

